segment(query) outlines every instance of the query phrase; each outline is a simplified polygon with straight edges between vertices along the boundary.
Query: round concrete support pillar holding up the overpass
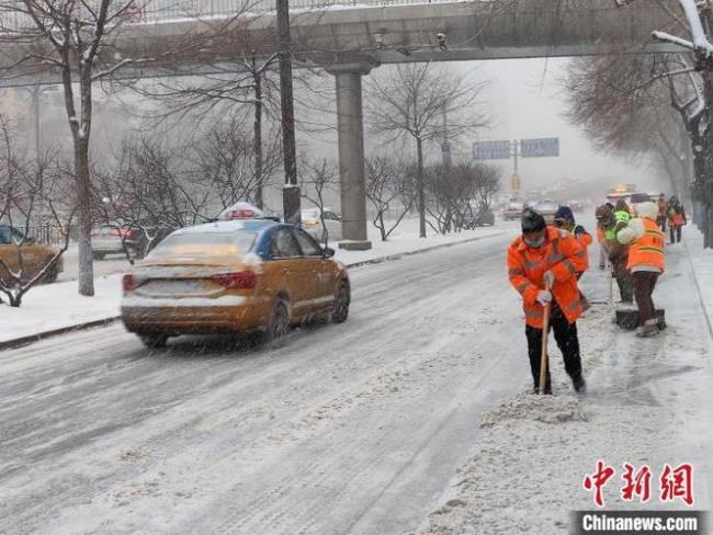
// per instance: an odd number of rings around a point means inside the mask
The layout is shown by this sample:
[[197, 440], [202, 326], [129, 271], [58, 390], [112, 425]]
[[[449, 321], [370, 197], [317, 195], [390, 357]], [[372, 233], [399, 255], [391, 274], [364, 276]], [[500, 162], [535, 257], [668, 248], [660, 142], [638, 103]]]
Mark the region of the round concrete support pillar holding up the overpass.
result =
[[374, 60], [359, 60], [332, 65], [327, 69], [337, 81], [339, 190], [343, 239], [339, 247], [342, 249], [372, 248], [366, 232], [362, 76], [369, 75], [376, 66]]

